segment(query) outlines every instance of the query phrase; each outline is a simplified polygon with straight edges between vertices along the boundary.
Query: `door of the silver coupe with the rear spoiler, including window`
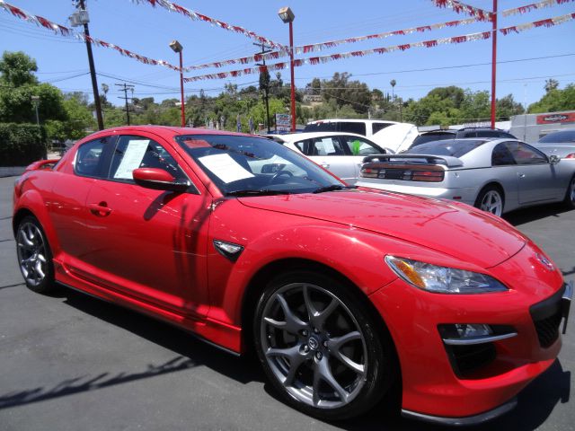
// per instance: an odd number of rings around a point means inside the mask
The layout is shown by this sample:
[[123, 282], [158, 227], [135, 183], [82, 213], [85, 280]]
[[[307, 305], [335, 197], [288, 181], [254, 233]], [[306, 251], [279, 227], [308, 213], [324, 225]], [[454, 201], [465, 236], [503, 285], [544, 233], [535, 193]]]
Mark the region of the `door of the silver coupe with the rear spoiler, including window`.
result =
[[559, 198], [556, 166], [547, 156], [523, 142], [509, 142], [509, 151], [517, 163], [519, 204], [531, 204]]

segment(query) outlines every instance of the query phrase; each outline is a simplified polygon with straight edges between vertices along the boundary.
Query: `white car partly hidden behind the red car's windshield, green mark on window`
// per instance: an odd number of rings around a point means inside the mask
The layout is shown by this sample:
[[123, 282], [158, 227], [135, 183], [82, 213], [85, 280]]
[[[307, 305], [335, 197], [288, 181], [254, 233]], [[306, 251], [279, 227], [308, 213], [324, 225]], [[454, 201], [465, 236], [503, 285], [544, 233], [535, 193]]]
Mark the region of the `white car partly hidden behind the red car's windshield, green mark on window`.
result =
[[361, 164], [367, 155], [389, 153], [365, 136], [353, 133], [314, 132], [269, 137], [304, 154], [348, 184], [355, 184], [358, 180]]

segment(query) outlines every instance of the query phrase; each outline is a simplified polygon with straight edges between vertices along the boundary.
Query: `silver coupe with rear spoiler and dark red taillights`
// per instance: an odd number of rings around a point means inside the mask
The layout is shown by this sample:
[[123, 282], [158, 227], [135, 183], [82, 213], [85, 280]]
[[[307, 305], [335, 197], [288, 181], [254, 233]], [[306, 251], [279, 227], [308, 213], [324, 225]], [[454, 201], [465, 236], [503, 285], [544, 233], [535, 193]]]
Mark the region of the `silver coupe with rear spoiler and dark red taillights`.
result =
[[523, 142], [455, 139], [410, 151], [366, 157], [357, 185], [453, 199], [497, 216], [549, 202], [575, 208], [575, 160]]

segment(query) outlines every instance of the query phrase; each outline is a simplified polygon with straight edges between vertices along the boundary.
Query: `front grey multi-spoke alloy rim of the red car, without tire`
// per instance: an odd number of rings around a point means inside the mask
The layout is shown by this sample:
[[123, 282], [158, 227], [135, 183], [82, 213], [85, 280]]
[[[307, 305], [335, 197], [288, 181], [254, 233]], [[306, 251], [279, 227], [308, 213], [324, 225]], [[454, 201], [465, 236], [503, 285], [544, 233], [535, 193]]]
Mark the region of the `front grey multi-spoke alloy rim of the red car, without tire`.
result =
[[261, 347], [279, 383], [319, 409], [349, 404], [366, 383], [367, 344], [349, 308], [320, 286], [282, 286], [265, 304]]

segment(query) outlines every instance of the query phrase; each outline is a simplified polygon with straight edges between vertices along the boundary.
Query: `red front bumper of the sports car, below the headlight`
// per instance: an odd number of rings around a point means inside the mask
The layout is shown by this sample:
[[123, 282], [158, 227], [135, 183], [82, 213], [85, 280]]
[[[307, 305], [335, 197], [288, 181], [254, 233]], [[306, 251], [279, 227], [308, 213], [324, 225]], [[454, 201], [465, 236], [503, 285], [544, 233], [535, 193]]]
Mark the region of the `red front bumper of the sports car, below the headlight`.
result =
[[[537, 266], [533, 259], [537, 251], [527, 244], [515, 257], [489, 270], [509, 286], [509, 292], [430, 294], [398, 279], [370, 295], [399, 356], [404, 416], [453, 425], [492, 418], [508, 411], [509, 400], [553, 364], [562, 346], [559, 321], [567, 319], [565, 303], [570, 302], [562, 296], [571, 297], [572, 285], [563, 285], [558, 271]], [[532, 315], [532, 307], [537, 309], [540, 303], [545, 303], [539, 307], [543, 314]], [[550, 316], [555, 319], [554, 335], [547, 334], [542, 342], [537, 321], [546, 325]], [[438, 330], [455, 323], [511, 327], [517, 336], [492, 341], [492, 357], [460, 374]]]

